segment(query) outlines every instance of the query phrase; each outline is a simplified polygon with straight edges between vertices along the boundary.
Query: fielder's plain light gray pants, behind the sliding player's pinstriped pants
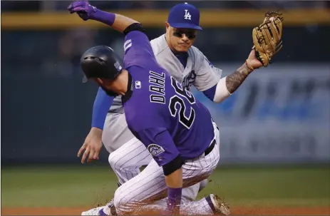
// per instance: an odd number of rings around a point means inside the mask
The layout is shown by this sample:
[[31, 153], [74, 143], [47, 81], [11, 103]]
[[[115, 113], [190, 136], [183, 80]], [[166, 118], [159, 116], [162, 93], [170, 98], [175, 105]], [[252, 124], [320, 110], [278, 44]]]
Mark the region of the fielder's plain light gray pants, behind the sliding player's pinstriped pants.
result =
[[[117, 175], [120, 185], [138, 175], [140, 168], [153, 160], [145, 145], [128, 129], [125, 114], [111, 113], [107, 115], [102, 140], [110, 153], [108, 161]], [[197, 182], [182, 190], [183, 202], [196, 200], [198, 191], [206, 185], [207, 180], [203, 180], [202, 185]]]

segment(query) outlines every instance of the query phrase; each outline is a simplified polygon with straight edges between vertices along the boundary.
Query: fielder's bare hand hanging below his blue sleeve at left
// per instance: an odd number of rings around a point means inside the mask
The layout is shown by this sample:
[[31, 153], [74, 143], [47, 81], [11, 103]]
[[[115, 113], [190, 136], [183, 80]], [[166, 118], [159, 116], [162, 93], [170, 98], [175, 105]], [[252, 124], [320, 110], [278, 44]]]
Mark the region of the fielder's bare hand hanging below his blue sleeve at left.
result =
[[99, 128], [92, 128], [85, 139], [85, 143], [83, 143], [78, 151], [78, 157], [80, 157], [83, 150], [85, 150], [85, 153], [83, 153], [83, 157], [81, 158], [81, 163], [85, 163], [86, 158], [88, 158], [88, 163], [91, 162], [91, 160], [98, 160], [101, 148], [102, 130]]

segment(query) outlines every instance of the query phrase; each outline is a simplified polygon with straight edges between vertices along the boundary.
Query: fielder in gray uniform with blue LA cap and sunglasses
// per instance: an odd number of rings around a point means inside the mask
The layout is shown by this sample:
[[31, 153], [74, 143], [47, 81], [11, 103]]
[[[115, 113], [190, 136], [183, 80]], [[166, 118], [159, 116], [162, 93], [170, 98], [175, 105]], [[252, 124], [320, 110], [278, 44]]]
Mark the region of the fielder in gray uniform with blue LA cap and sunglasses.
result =
[[[89, 14], [88, 19], [111, 25], [108, 13], [89, 4], [81, 10]], [[192, 46], [197, 31], [202, 30], [199, 23], [200, 12], [195, 6], [186, 3], [177, 4], [170, 10], [165, 23], [166, 34], [155, 38], [150, 43], [160, 66], [182, 83], [183, 88], [189, 90], [193, 85], [207, 98], [220, 103], [234, 93], [253, 68], [259, 68], [261, 63], [255, 59], [254, 55], [250, 55], [248, 58], [250, 61], [246, 61], [230, 76], [221, 78], [222, 71], [212, 66], [204, 54]], [[124, 50], [130, 46], [131, 43], [126, 41]], [[252, 70], [247, 70], [247, 68], [252, 68]], [[78, 153], [81, 155], [83, 150], [88, 148], [83, 154], [82, 163], [87, 158], [88, 161], [98, 159], [98, 153], [102, 147], [101, 140], [110, 153], [108, 160], [118, 176], [118, 185], [134, 178], [140, 173], [140, 167], [148, 165], [152, 160], [152, 155], [147, 148], [128, 129], [121, 98], [117, 96], [113, 100], [113, 97], [108, 96], [102, 88], [99, 89], [94, 103], [91, 132]], [[207, 181], [203, 182], [205, 185]], [[184, 202], [195, 200], [200, 189], [200, 183], [184, 188], [182, 200]], [[102, 210], [102, 207], [97, 210]], [[91, 211], [88, 212], [91, 213]], [[83, 214], [88, 215], [88, 212], [83, 212]], [[91, 214], [94, 215], [95, 212]]]

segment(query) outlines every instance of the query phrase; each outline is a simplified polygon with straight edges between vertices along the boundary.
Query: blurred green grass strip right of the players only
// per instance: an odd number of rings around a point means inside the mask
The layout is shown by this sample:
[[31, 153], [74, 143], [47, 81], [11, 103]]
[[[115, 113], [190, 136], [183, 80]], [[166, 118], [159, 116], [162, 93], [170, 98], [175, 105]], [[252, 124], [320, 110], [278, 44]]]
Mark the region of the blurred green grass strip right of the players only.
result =
[[327, 168], [217, 170], [202, 194], [216, 192], [237, 205], [330, 205]]

